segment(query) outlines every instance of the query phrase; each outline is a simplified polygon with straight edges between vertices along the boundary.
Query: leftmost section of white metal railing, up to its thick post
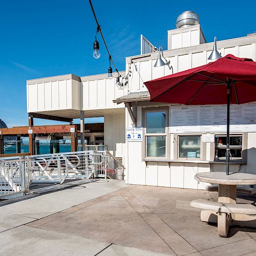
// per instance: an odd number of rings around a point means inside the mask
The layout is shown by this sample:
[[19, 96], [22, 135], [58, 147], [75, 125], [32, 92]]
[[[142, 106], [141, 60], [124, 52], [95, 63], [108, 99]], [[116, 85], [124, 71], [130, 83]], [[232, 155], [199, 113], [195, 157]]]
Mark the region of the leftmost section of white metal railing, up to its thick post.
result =
[[26, 194], [29, 175], [25, 157], [0, 160], [0, 198]]

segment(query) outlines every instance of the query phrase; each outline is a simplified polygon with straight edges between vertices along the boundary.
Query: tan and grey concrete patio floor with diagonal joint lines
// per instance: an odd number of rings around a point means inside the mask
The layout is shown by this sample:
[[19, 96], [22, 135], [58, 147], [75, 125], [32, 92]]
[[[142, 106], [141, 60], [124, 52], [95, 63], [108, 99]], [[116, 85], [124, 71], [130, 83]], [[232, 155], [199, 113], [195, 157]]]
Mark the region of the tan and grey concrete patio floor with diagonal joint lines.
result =
[[5, 205], [0, 254], [256, 255], [256, 229], [219, 237], [189, 206], [198, 198], [216, 201], [217, 193], [99, 180]]

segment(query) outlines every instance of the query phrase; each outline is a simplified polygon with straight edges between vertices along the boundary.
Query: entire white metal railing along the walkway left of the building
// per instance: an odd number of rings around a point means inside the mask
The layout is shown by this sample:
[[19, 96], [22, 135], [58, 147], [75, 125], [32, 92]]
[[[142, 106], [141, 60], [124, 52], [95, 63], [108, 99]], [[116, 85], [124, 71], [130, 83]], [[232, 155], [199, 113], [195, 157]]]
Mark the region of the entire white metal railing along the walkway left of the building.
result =
[[31, 182], [60, 183], [66, 179], [123, 180], [124, 166], [104, 145], [86, 151], [0, 158], [0, 199], [25, 195]]

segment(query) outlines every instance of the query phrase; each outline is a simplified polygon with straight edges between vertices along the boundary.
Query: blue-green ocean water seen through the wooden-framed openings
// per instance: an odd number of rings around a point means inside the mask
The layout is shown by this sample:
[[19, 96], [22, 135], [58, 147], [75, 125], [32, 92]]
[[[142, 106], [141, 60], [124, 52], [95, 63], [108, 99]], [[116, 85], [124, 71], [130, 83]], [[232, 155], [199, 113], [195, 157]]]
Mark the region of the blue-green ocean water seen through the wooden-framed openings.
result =
[[[71, 144], [59, 144], [59, 152], [71, 152]], [[12, 145], [5, 149], [4, 154], [15, 154], [16, 145]], [[29, 145], [22, 144], [20, 145], [20, 153], [29, 153]], [[50, 143], [40, 144], [40, 155], [50, 154]]]

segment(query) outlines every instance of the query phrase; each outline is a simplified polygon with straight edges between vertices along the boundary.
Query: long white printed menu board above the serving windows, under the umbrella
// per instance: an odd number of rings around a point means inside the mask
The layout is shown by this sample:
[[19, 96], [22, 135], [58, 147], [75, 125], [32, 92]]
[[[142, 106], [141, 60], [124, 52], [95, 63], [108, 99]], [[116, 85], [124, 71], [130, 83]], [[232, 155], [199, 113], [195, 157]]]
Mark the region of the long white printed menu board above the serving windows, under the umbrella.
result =
[[[225, 132], [227, 105], [178, 105], [170, 107], [170, 133]], [[256, 131], [256, 102], [230, 105], [230, 131]]]

